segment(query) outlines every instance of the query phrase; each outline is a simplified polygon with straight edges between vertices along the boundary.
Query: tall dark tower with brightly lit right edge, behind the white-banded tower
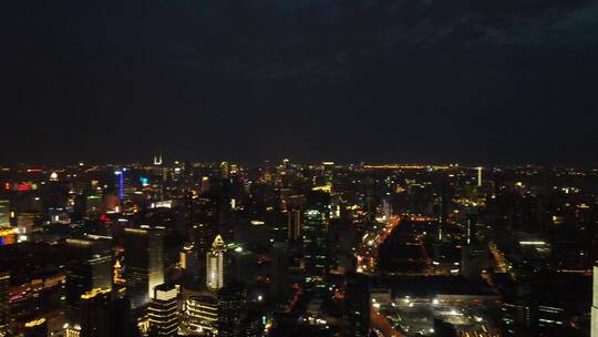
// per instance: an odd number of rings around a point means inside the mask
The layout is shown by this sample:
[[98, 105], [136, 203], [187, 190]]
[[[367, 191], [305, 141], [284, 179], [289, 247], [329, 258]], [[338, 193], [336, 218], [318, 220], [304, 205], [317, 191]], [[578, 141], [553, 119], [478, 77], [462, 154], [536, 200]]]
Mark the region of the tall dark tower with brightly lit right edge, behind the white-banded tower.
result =
[[161, 228], [124, 229], [124, 279], [133, 308], [150, 302], [164, 283], [164, 234]]

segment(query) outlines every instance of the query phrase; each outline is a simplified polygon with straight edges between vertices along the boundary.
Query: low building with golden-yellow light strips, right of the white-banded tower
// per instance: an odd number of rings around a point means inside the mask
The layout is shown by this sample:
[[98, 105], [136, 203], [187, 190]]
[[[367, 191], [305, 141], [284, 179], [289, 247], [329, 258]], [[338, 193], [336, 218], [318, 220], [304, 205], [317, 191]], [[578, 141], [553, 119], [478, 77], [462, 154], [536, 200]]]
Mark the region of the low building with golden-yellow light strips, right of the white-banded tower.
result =
[[205, 292], [185, 300], [182, 331], [186, 336], [215, 336], [218, 334], [218, 297]]

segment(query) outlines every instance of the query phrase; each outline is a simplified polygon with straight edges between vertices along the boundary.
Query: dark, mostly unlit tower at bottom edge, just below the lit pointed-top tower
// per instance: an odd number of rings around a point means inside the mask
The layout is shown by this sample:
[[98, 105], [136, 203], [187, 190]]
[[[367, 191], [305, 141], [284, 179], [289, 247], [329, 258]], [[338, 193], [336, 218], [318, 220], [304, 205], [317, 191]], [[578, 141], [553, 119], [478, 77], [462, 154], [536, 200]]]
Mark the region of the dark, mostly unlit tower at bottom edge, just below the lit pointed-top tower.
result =
[[245, 336], [247, 292], [240, 283], [231, 283], [218, 290], [218, 336]]

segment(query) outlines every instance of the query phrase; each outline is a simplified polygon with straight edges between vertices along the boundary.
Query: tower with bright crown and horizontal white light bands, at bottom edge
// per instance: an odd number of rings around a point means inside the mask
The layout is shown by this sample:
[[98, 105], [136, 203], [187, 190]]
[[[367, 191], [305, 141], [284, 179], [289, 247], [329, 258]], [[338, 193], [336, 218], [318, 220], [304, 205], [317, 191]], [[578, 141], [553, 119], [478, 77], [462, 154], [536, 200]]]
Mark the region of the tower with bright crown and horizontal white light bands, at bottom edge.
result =
[[154, 288], [154, 296], [147, 317], [150, 330], [154, 336], [176, 336], [178, 329], [178, 288], [172, 284], [162, 284]]

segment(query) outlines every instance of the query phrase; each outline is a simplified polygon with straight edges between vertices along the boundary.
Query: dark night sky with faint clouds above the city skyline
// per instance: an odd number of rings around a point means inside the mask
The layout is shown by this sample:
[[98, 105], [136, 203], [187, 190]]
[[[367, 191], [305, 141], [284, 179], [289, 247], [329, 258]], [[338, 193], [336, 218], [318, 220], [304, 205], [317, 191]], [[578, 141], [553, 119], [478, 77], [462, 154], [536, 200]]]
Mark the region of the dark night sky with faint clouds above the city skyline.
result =
[[598, 1], [0, 3], [1, 163], [598, 164]]

